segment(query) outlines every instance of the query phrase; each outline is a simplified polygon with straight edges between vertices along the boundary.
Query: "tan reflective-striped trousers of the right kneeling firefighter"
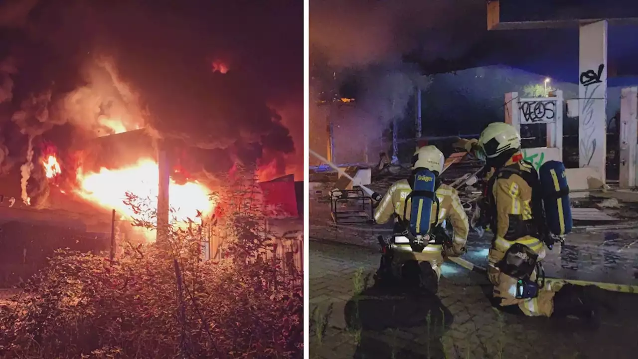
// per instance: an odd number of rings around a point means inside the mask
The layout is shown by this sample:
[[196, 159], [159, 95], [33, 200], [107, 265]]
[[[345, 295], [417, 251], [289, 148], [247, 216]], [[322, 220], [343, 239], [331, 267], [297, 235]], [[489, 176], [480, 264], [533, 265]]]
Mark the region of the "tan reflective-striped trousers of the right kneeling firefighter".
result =
[[[556, 291], [560, 288], [545, 286], [538, 290], [538, 295], [535, 298], [517, 299], [516, 284], [518, 280], [501, 272], [495, 266], [503, 256], [503, 252], [494, 249], [489, 250], [487, 277], [494, 285], [493, 295], [498, 306], [510, 308], [517, 306], [524, 315], [530, 317], [550, 317], [554, 312], [554, 294], [556, 294]], [[531, 275], [531, 280], [535, 280], [536, 277], [537, 273], [536, 270], [534, 270]]]

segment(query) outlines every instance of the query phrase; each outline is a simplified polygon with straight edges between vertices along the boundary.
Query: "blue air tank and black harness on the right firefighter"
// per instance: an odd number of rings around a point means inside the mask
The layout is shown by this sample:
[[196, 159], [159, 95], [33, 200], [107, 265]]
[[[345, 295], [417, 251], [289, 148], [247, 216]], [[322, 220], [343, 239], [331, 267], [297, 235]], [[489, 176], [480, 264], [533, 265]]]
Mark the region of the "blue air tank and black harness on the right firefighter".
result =
[[533, 219], [526, 221], [524, 229], [513, 234], [520, 238], [526, 235], [537, 236], [552, 249], [556, 241], [564, 241], [565, 235], [572, 231], [572, 208], [569, 198], [565, 165], [560, 161], [547, 161], [538, 172], [529, 162], [522, 161], [530, 171], [522, 171], [518, 164], [503, 167], [495, 172], [487, 183], [487, 201], [491, 208], [487, 222], [492, 226], [496, 219], [496, 203], [492, 189], [497, 178], [508, 174], [517, 174], [531, 187], [531, 211]]

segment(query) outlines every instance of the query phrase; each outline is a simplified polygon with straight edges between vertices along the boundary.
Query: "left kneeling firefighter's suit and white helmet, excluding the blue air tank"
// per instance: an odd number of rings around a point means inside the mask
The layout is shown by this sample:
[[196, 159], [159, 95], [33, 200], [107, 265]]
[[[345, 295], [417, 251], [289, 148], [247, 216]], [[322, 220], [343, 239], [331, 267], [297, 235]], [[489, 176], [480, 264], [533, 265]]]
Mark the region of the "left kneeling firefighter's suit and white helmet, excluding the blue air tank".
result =
[[[417, 149], [412, 157], [412, 174], [408, 179], [399, 179], [392, 184], [388, 192], [383, 196], [375, 210], [375, 222], [385, 224], [394, 217], [394, 234], [392, 243], [389, 244], [389, 253], [384, 254], [380, 270], [375, 276], [376, 280], [387, 278], [390, 281], [397, 278], [412, 281], [407, 273], [401, 273], [403, 264], [412, 268], [415, 264], [420, 267], [420, 285], [432, 293], [438, 290], [438, 280], [441, 275], [443, 254], [445, 256], [460, 256], [465, 249], [468, 237], [468, 218], [463, 210], [461, 200], [454, 188], [441, 183], [439, 175], [443, 171], [445, 158], [443, 153], [435, 146], [424, 146]], [[414, 252], [408, 239], [405, 237], [406, 225], [410, 218], [410, 202], [407, 197], [412, 192], [415, 176], [420, 171], [427, 169], [434, 176], [434, 193], [438, 197], [438, 206], [433, 204], [429, 222], [435, 224], [431, 227], [431, 233], [436, 234], [436, 241], [430, 241], [420, 252]], [[408, 206], [406, 208], [406, 206]], [[406, 211], [407, 210], [407, 211]], [[438, 218], [436, 214], [438, 213]], [[403, 218], [405, 214], [405, 217]], [[450, 238], [445, 229], [440, 225], [445, 218], [450, 218], [454, 235]]]

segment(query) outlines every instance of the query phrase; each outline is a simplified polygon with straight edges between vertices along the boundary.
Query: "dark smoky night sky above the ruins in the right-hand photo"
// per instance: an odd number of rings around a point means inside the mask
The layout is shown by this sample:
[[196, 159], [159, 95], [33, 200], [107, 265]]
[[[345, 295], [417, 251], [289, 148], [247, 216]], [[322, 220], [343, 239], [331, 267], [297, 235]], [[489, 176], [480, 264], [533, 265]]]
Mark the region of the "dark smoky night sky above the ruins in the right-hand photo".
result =
[[[634, 0], [501, 0], [501, 20], [590, 18], [638, 12]], [[632, 12], [633, 11], [633, 12]], [[315, 55], [342, 68], [379, 62], [419, 63], [426, 73], [506, 65], [565, 82], [578, 80], [578, 29], [487, 31], [484, 0], [320, 0], [311, 3]], [[533, 14], [529, 15], [529, 14]], [[516, 19], [514, 19], [516, 15]], [[635, 82], [638, 26], [609, 26], [610, 86]]]

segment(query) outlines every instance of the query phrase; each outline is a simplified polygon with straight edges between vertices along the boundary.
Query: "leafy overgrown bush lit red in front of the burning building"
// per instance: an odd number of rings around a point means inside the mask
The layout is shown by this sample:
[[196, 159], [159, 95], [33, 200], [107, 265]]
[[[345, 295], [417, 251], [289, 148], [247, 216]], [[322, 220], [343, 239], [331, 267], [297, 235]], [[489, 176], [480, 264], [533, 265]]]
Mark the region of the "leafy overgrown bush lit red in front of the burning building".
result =
[[[22, 300], [0, 308], [0, 357], [302, 357], [302, 280], [279, 280], [278, 261], [263, 260], [259, 206], [229, 191], [224, 218], [211, 218], [226, 233], [219, 261], [199, 260], [201, 227], [175, 222], [165, 242], [121, 243], [113, 263], [58, 250]], [[154, 227], [149, 199], [127, 202], [135, 225]]]

